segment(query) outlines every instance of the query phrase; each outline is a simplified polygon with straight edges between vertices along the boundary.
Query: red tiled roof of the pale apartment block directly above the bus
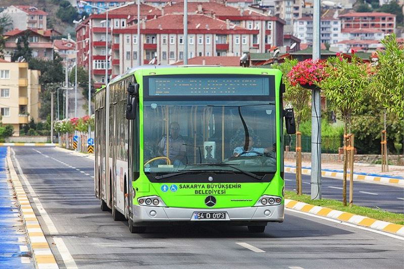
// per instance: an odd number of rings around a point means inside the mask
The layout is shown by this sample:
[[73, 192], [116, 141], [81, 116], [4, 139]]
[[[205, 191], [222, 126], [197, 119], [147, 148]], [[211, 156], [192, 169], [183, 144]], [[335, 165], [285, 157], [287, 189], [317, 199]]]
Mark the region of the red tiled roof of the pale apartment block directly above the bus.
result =
[[[183, 15], [168, 14], [156, 19], [145, 22], [146, 30], [178, 30], [183, 26]], [[247, 30], [243, 27], [230, 24], [230, 30]], [[128, 27], [127, 29], [136, 29], [137, 25]], [[188, 31], [189, 30], [227, 30], [225, 21], [213, 19], [206, 15], [188, 15]], [[251, 31], [251, 30], [247, 30]]]

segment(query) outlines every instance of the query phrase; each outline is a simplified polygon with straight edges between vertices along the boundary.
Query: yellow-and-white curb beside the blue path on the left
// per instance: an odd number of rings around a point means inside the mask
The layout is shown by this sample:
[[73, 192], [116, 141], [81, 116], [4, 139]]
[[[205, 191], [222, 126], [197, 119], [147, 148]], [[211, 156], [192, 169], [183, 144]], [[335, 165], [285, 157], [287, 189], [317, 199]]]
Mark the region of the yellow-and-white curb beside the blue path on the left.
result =
[[26, 235], [32, 251], [32, 259], [35, 267], [38, 269], [59, 268], [55, 256], [52, 253], [45, 236], [43, 235], [42, 228], [39, 225], [38, 219], [36, 218], [36, 215], [32, 209], [27, 194], [25, 193], [16, 170], [14, 169], [13, 162], [11, 161], [10, 148], [7, 149], [7, 166], [10, 171], [10, 178], [13, 183], [21, 215], [24, 220]]

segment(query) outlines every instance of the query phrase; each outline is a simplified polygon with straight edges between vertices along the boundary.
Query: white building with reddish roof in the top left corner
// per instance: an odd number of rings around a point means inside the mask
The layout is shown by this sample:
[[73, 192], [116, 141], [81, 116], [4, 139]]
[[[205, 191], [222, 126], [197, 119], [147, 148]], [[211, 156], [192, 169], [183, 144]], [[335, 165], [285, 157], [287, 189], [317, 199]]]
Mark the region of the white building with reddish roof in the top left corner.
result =
[[12, 29], [26, 30], [30, 28], [43, 29], [46, 28], [47, 13], [38, 10], [32, 6], [10, 6], [7, 7], [2, 15], [8, 15], [13, 20]]

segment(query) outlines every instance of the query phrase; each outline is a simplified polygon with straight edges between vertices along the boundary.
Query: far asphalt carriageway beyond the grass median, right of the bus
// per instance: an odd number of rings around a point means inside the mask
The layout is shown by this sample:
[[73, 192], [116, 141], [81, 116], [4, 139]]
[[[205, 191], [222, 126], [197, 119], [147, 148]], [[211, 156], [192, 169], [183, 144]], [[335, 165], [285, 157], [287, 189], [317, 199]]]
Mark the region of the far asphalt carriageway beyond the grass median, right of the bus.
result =
[[[296, 189], [295, 174], [285, 173], [285, 185], [287, 190]], [[301, 191], [310, 194], [310, 188], [310, 176], [302, 175]], [[349, 180], [346, 183], [346, 195], [349, 195]], [[342, 180], [323, 177], [322, 197], [342, 201]], [[404, 188], [354, 181], [354, 204], [403, 214]]]

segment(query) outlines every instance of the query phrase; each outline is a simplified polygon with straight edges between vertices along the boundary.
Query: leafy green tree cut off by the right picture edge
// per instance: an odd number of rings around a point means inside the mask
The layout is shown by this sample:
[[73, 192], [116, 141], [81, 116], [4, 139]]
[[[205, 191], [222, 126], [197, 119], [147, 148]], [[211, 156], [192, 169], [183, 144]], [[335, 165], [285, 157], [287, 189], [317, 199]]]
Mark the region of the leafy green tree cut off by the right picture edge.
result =
[[384, 51], [378, 51], [376, 74], [371, 88], [374, 97], [388, 112], [404, 117], [404, 47], [397, 43], [395, 34], [381, 41]]

